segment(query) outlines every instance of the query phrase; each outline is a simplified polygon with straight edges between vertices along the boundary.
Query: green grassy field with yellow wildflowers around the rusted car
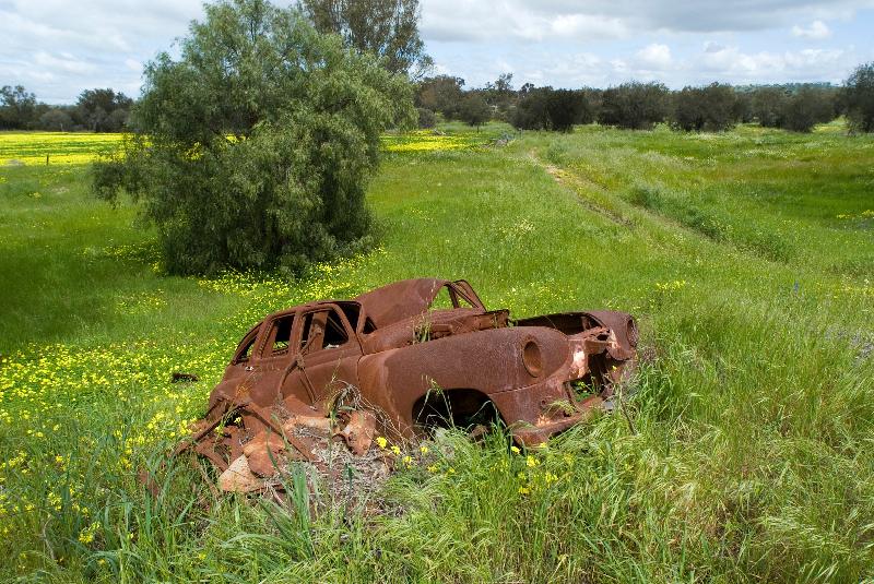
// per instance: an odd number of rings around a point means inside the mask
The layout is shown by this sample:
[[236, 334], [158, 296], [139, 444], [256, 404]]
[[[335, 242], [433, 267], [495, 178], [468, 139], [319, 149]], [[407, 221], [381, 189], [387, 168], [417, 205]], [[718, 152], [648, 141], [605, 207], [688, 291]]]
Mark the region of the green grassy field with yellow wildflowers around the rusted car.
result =
[[[379, 249], [295, 282], [165, 276], [86, 167], [0, 167], [0, 580], [874, 582], [874, 139], [449, 130], [387, 144]], [[381, 513], [215, 498], [186, 461], [137, 482], [263, 313], [423, 275], [635, 313], [631, 424], [449, 433]]]

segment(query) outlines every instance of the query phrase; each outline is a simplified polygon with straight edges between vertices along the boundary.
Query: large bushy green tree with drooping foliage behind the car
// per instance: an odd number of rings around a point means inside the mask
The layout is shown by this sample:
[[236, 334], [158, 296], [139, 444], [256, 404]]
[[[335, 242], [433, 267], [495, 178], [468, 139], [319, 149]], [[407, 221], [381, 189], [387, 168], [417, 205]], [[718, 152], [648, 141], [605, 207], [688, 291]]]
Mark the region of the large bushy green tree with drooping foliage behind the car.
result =
[[366, 245], [379, 136], [414, 120], [404, 75], [296, 10], [223, 0], [144, 81], [133, 133], [94, 188], [142, 202], [168, 271], [296, 271]]

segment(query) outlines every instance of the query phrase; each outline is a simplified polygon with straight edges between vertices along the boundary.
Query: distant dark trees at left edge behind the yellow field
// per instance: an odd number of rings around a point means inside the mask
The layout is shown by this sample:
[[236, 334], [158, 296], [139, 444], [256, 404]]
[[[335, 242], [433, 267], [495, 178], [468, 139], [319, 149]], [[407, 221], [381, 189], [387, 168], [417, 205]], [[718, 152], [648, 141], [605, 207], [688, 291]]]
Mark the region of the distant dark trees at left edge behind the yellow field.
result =
[[110, 88], [85, 90], [73, 105], [50, 106], [21, 85], [0, 87], [0, 130], [121, 132], [133, 99]]

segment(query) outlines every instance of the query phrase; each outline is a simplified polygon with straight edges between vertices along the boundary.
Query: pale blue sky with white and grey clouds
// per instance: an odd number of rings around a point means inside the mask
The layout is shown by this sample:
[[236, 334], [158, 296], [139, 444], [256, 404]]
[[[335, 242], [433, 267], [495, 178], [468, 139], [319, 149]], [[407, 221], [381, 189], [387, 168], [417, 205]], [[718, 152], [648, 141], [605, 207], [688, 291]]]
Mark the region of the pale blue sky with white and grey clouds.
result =
[[[200, 0], [0, 0], [0, 85], [137, 96], [142, 63], [201, 14]], [[874, 60], [872, 31], [874, 0], [422, 0], [421, 24], [437, 72], [468, 86], [839, 83]]]

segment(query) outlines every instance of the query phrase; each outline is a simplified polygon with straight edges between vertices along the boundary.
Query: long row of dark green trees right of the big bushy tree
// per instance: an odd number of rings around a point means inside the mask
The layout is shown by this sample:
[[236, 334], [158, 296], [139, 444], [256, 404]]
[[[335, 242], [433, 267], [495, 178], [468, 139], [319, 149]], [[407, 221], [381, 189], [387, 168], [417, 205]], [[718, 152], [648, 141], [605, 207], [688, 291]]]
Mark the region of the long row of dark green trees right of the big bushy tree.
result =
[[855, 132], [874, 130], [874, 62], [862, 64], [841, 86], [827, 83], [732, 86], [711, 83], [671, 91], [658, 82], [628, 82], [606, 90], [512, 88], [501, 74], [483, 88], [464, 88], [464, 80], [437, 75], [416, 87], [420, 127], [433, 127], [438, 115], [481, 126], [503, 120], [519, 130], [568, 131], [598, 122], [631, 130], [658, 123], [686, 132], [720, 132], [737, 123], [810, 132], [817, 123], [846, 116]]

